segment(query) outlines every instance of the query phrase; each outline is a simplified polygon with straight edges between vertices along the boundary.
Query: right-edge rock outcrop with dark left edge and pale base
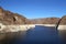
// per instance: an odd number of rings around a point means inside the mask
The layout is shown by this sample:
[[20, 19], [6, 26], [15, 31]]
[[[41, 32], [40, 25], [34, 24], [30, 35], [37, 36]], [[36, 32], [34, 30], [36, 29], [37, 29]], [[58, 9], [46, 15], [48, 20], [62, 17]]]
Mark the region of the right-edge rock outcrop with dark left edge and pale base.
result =
[[56, 24], [57, 30], [66, 30], [66, 15], [62, 16]]

